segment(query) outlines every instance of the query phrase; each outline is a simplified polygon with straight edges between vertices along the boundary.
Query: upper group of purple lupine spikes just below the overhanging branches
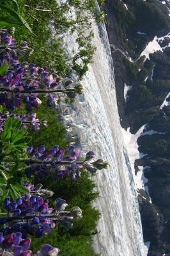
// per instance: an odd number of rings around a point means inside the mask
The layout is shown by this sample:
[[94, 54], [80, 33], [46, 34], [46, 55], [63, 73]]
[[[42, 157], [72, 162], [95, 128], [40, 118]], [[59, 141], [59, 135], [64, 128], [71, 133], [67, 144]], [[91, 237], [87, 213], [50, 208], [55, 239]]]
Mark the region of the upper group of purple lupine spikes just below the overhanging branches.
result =
[[[2, 45], [2, 46], [1, 46]], [[26, 110], [38, 108], [41, 100], [38, 94], [48, 95], [48, 103], [58, 102], [56, 93], [65, 93], [70, 99], [81, 94], [81, 84], [73, 84], [71, 80], [59, 84], [56, 74], [51, 74], [45, 67], [36, 67], [33, 63], [21, 64], [17, 56], [27, 48], [27, 42], [19, 46], [15, 44], [12, 36], [1, 33], [0, 36], [0, 104], [9, 111], [15, 107], [20, 108], [21, 102], [26, 104]]]

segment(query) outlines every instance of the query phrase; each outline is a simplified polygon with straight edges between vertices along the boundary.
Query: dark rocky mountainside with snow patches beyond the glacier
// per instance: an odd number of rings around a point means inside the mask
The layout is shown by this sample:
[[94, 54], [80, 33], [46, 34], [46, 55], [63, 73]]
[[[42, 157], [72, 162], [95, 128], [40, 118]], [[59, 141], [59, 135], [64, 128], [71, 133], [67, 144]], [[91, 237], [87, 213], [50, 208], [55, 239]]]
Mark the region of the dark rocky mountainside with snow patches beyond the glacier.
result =
[[148, 256], [170, 255], [170, 1], [107, 0], [104, 12], [121, 125], [148, 131], [135, 161], [150, 193], [138, 196]]

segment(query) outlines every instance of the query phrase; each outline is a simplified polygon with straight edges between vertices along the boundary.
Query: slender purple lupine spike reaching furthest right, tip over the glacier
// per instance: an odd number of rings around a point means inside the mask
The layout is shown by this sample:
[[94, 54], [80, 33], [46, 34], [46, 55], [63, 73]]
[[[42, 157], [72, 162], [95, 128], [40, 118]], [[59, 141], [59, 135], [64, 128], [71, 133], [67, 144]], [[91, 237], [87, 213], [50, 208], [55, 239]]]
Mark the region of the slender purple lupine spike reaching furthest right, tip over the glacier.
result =
[[31, 145], [27, 148], [27, 154], [30, 158], [26, 160], [28, 167], [25, 172], [28, 178], [31, 174], [36, 175], [39, 179], [43, 178], [43, 175], [52, 175], [52, 179], [62, 179], [65, 175], [69, 175], [70, 178], [75, 181], [81, 177], [80, 170], [86, 168], [91, 173], [107, 168], [107, 162], [102, 159], [91, 162], [94, 159], [95, 154], [89, 151], [86, 154], [84, 161], [77, 161], [81, 154], [79, 148], [75, 148], [71, 145], [68, 148], [68, 153], [65, 156], [65, 149], [56, 145], [52, 149], [45, 148], [45, 145], [34, 148]]

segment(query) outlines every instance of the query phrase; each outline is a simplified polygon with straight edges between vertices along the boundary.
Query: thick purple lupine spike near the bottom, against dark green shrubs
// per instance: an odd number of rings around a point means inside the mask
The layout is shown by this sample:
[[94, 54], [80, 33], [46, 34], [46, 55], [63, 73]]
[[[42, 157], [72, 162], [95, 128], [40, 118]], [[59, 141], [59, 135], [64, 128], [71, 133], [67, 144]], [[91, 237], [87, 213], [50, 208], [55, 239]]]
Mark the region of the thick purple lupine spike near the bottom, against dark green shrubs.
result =
[[[24, 239], [27, 235], [42, 237], [59, 223], [64, 228], [71, 228], [73, 221], [82, 218], [79, 207], [73, 207], [71, 211], [65, 211], [68, 204], [62, 198], [54, 201], [53, 207], [49, 207], [49, 201], [45, 197], [52, 196], [52, 191], [45, 191], [42, 185], [36, 188], [31, 184], [24, 184], [29, 188], [29, 193], [13, 201], [10, 197], [4, 199], [3, 207], [6, 216], [0, 218], [3, 225], [0, 232], [8, 236], [13, 232], [19, 232]], [[42, 195], [42, 196], [40, 196]]]

